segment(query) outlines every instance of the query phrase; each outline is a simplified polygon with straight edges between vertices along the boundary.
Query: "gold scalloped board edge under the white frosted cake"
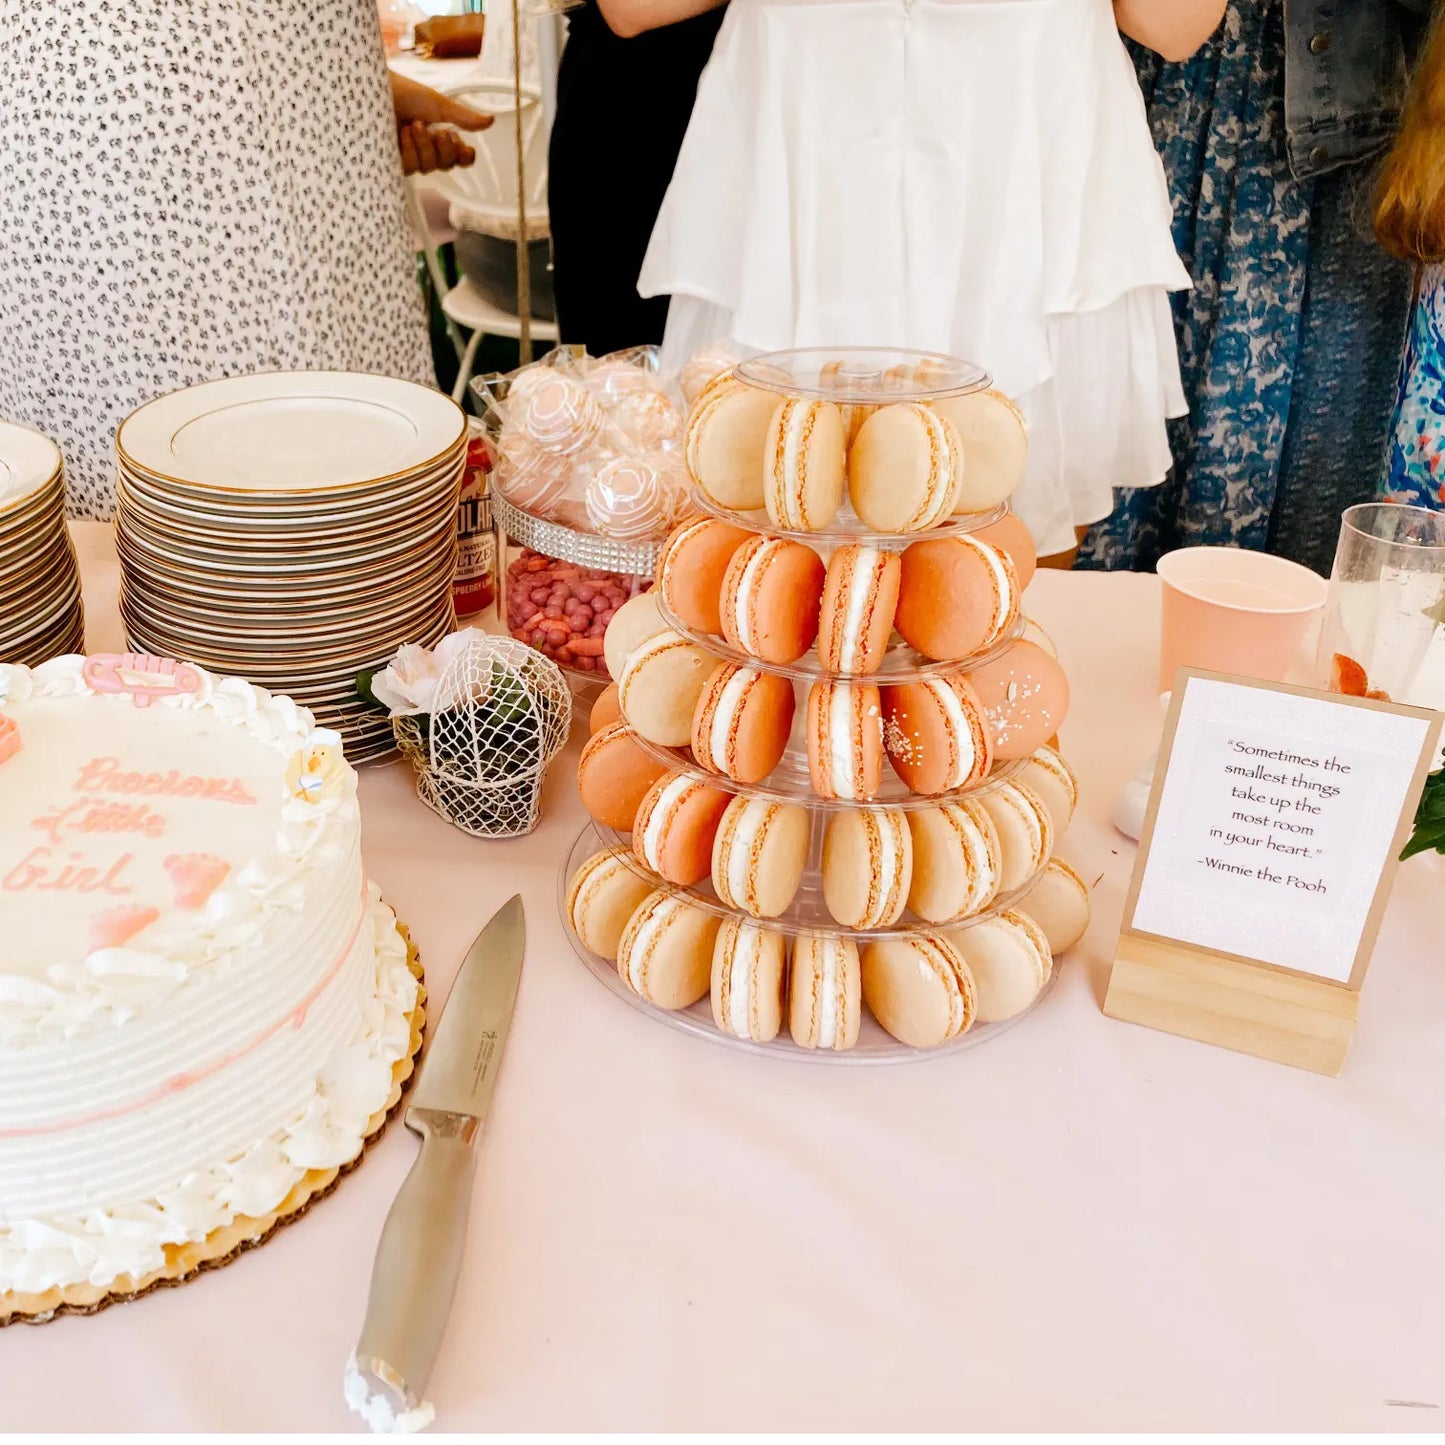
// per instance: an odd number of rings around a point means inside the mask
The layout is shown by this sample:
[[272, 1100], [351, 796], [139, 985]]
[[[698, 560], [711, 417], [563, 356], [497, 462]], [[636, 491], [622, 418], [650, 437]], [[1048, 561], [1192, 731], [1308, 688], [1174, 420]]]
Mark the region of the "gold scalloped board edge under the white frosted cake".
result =
[[392, 1116], [402, 1105], [416, 1059], [422, 1052], [422, 1033], [426, 1026], [426, 980], [422, 975], [422, 961], [406, 925], [397, 919], [396, 929], [406, 941], [406, 967], [416, 980], [416, 1004], [412, 1009], [412, 1039], [406, 1053], [392, 1066], [392, 1092], [386, 1104], [367, 1121], [366, 1137], [354, 1159], [334, 1169], [309, 1169], [292, 1186], [290, 1194], [270, 1211], [253, 1218], [238, 1215], [230, 1224], [212, 1230], [204, 1240], [186, 1244], [168, 1244], [166, 1263], [140, 1279], [121, 1276], [110, 1285], [65, 1285], [48, 1289], [43, 1295], [0, 1293], [0, 1328], [6, 1325], [43, 1325], [61, 1315], [97, 1315], [110, 1305], [124, 1305], [140, 1299], [153, 1289], [171, 1289], [186, 1285], [207, 1270], [221, 1269], [237, 1260], [247, 1250], [264, 1244], [282, 1225], [299, 1220], [314, 1204], [324, 1199], [366, 1157], [367, 1149], [381, 1137]]

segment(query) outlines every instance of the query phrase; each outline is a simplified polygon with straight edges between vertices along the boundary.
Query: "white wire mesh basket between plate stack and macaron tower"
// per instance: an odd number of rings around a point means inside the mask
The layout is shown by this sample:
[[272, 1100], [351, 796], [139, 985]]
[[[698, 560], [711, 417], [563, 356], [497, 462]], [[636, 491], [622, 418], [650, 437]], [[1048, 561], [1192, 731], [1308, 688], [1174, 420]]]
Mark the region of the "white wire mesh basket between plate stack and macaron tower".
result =
[[542, 815], [572, 695], [562, 669], [526, 643], [477, 636], [438, 679], [431, 714], [392, 727], [432, 812], [477, 838], [516, 838]]

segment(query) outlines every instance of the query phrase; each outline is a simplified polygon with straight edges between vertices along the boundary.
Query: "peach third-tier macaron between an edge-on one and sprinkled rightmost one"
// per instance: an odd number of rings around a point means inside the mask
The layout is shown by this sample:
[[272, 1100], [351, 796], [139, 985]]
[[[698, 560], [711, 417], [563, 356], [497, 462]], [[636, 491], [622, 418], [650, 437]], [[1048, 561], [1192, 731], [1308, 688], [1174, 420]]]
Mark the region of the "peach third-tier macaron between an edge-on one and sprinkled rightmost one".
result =
[[993, 767], [983, 707], [959, 672], [884, 688], [883, 746], [915, 793], [972, 788]]

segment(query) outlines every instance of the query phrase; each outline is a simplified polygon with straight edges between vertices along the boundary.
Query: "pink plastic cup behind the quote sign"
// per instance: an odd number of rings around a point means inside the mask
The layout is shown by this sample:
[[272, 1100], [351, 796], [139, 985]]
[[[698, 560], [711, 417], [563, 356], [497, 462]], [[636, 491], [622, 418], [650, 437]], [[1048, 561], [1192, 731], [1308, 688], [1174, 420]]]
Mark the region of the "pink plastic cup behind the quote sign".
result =
[[1157, 572], [1160, 691], [1179, 668], [1283, 682], [1328, 591], [1308, 566], [1231, 546], [1166, 552]]

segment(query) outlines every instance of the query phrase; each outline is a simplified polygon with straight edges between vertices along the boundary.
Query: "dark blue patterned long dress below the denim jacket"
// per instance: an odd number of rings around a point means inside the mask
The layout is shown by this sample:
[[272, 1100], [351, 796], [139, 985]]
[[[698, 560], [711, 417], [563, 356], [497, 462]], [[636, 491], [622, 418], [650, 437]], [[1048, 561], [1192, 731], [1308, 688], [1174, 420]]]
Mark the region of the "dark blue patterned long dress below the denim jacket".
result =
[[1173, 298], [1191, 415], [1173, 473], [1118, 490], [1079, 566], [1221, 545], [1328, 574], [1340, 513], [1380, 477], [1409, 305], [1407, 269], [1360, 223], [1373, 166], [1295, 179], [1283, 0], [1231, 0], [1182, 64], [1134, 56], [1195, 283]]

